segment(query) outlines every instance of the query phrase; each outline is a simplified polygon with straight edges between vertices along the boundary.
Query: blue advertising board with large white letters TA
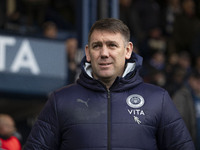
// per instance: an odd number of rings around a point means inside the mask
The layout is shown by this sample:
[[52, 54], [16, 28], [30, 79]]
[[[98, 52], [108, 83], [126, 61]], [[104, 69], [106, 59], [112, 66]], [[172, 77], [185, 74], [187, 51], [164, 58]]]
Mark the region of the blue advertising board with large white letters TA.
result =
[[66, 79], [64, 41], [0, 35], [0, 91], [47, 95]]

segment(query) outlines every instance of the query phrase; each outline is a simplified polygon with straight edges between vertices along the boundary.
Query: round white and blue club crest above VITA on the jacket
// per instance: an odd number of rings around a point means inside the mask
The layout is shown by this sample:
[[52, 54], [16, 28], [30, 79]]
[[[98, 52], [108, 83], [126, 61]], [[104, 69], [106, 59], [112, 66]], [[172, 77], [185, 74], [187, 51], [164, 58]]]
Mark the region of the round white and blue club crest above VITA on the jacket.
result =
[[126, 99], [126, 103], [131, 108], [140, 108], [144, 105], [144, 98], [138, 94], [133, 94]]

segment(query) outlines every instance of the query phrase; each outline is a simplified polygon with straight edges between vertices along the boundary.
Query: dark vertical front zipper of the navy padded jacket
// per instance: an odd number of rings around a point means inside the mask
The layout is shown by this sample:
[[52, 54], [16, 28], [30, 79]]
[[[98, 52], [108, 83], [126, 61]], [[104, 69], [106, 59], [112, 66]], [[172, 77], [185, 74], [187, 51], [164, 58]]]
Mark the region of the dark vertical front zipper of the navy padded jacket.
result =
[[110, 90], [108, 90], [108, 108], [107, 108], [107, 128], [108, 128], [108, 150], [111, 150], [111, 98], [110, 98]]

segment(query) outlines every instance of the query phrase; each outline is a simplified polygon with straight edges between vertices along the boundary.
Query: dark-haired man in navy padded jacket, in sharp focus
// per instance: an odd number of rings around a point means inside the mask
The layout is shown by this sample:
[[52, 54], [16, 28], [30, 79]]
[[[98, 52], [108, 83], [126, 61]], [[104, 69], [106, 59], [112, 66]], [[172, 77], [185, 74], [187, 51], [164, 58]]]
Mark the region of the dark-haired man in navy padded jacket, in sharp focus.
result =
[[193, 150], [167, 92], [139, 76], [142, 58], [117, 19], [91, 28], [77, 83], [54, 92], [25, 150]]

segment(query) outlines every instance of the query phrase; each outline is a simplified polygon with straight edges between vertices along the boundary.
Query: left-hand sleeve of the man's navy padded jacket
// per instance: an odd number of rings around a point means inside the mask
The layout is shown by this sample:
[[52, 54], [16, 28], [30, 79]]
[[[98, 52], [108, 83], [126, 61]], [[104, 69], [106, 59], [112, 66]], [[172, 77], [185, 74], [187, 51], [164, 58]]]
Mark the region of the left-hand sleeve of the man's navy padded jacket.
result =
[[24, 150], [56, 150], [59, 149], [58, 140], [56, 101], [52, 94], [34, 124]]

